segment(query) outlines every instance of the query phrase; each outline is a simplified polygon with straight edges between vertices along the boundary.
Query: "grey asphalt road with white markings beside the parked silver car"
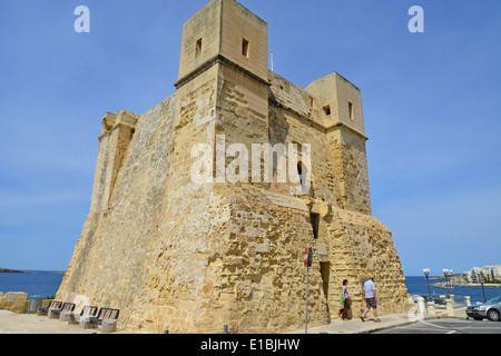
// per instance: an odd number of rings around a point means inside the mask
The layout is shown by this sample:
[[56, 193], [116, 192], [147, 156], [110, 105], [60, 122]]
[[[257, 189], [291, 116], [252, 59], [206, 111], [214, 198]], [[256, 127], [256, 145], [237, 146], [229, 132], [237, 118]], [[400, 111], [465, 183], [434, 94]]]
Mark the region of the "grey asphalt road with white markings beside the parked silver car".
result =
[[373, 334], [501, 334], [501, 322], [455, 318], [432, 319], [374, 332]]

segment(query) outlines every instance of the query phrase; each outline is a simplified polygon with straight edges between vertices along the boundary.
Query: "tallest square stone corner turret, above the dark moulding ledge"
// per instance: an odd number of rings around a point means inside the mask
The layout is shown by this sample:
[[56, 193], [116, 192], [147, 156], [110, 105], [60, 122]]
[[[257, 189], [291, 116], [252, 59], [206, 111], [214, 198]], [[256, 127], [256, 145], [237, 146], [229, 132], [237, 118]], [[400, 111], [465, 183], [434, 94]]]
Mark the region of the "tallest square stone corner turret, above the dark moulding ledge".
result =
[[212, 0], [183, 26], [178, 79], [222, 56], [267, 80], [267, 23], [235, 0]]

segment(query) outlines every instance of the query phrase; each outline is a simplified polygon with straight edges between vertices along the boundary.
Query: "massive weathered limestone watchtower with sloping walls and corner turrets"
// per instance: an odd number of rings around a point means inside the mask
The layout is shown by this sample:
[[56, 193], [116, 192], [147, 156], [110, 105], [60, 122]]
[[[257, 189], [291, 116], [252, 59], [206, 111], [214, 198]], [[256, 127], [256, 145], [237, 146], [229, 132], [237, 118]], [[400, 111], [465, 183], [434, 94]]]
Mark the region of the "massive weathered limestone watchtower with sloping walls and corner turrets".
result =
[[[176, 93], [140, 116], [105, 115], [90, 212], [57, 298], [119, 308], [134, 332], [296, 330], [312, 247], [308, 325], [338, 317], [343, 279], [353, 310], [371, 275], [380, 314], [406, 308], [392, 234], [371, 215], [360, 89], [336, 72], [303, 89], [267, 69], [267, 51], [266, 22], [212, 0], [184, 24]], [[203, 182], [199, 144], [215, 177]], [[298, 157], [279, 149], [293, 144]], [[256, 145], [273, 147], [271, 166]], [[250, 179], [243, 158], [273, 180]], [[293, 176], [311, 189], [292, 194]]]

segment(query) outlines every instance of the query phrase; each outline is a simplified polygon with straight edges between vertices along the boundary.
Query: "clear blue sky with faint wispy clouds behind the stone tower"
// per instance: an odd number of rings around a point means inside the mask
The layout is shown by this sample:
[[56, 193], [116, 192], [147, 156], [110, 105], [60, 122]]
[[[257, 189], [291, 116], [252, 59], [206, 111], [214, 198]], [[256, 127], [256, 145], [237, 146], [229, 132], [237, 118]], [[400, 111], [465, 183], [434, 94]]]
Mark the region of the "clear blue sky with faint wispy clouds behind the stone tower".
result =
[[[183, 22], [206, 0], [0, 2], [0, 267], [65, 270], [89, 211], [106, 111], [175, 92]], [[373, 215], [405, 275], [501, 264], [501, 3], [240, 0], [274, 69], [362, 89]], [[90, 33], [77, 33], [77, 6]], [[424, 33], [411, 33], [411, 6]]]

